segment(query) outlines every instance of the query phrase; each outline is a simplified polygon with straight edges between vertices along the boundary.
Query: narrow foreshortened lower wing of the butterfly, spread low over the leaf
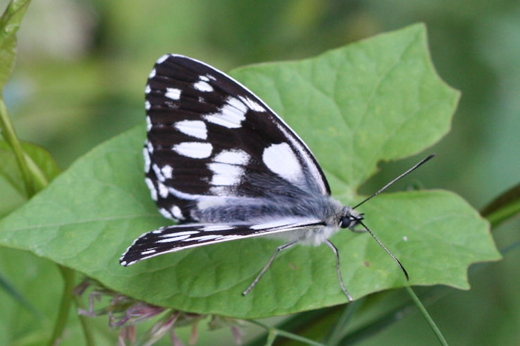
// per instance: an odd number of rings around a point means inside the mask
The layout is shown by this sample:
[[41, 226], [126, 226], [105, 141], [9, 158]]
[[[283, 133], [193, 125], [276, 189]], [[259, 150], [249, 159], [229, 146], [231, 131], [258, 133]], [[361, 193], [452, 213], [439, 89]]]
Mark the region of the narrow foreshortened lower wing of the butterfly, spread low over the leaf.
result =
[[130, 266], [146, 258], [186, 248], [319, 226], [324, 226], [324, 222], [319, 219], [290, 217], [265, 224], [183, 224], [162, 227], [135, 239], [119, 263]]

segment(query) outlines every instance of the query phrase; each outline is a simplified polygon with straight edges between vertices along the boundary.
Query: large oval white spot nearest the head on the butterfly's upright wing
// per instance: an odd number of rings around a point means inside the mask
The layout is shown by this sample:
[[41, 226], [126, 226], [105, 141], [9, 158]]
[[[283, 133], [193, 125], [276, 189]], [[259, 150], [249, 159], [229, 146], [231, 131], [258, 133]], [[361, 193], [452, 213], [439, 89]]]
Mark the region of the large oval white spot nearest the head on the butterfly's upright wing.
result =
[[302, 166], [293, 149], [287, 143], [272, 144], [263, 150], [262, 161], [272, 171], [290, 181], [300, 185], [304, 181]]

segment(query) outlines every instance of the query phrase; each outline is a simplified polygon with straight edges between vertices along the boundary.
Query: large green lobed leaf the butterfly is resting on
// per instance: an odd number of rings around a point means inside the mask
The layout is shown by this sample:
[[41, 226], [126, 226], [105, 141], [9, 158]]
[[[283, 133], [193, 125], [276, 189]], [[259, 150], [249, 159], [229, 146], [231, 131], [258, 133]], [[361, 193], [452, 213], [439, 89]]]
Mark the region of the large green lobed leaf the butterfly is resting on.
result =
[[[233, 75], [257, 92], [309, 144], [333, 195], [352, 205], [376, 163], [415, 154], [449, 130], [458, 92], [438, 78], [424, 26], [415, 25], [300, 62], [260, 64]], [[259, 318], [345, 302], [327, 246], [279, 255], [281, 242], [244, 239], [155, 257], [123, 268], [135, 237], [171, 224], [143, 181], [144, 124], [96, 147], [26, 206], [0, 222], [0, 244], [82, 271], [110, 289], [198, 313]], [[399, 257], [410, 284], [467, 289], [467, 267], [498, 260], [488, 224], [456, 194], [383, 194], [363, 205], [366, 223]], [[406, 285], [367, 234], [340, 231], [343, 278], [354, 298]]]

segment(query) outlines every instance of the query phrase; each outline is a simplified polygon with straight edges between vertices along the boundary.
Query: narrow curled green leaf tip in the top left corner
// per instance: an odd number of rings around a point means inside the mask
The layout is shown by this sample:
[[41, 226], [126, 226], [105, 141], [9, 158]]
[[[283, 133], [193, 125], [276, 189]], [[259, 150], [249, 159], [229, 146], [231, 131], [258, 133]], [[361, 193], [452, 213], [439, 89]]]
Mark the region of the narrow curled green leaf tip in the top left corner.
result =
[[16, 33], [30, 0], [13, 0], [0, 17], [0, 91], [15, 67]]

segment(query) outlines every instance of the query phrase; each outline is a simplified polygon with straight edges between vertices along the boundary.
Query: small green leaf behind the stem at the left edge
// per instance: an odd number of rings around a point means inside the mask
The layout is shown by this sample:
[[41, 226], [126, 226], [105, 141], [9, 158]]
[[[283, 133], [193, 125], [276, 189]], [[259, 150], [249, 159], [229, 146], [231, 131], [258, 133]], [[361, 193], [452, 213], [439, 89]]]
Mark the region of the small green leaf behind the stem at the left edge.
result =
[[[51, 181], [60, 174], [58, 163], [46, 149], [31, 143], [21, 143], [21, 147], [27, 155], [28, 163], [37, 167], [33, 171], [42, 172], [46, 181]], [[4, 140], [0, 140], [0, 163], [1, 218], [25, 203], [27, 193], [15, 154]]]

